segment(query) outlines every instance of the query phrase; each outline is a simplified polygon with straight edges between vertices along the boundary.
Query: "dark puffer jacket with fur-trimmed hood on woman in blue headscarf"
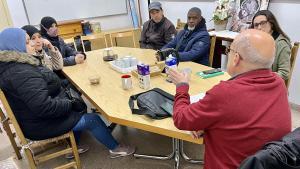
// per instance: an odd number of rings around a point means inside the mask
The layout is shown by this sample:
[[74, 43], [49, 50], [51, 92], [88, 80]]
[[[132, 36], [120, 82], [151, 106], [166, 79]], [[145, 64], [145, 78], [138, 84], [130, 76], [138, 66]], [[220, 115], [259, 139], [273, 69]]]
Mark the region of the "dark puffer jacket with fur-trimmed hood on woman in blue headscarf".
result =
[[37, 59], [28, 54], [0, 51], [0, 88], [26, 138], [41, 140], [64, 134], [82, 116], [72, 110], [69, 99], [56, 96], [60, 83], [55, 76], [39, 68]]

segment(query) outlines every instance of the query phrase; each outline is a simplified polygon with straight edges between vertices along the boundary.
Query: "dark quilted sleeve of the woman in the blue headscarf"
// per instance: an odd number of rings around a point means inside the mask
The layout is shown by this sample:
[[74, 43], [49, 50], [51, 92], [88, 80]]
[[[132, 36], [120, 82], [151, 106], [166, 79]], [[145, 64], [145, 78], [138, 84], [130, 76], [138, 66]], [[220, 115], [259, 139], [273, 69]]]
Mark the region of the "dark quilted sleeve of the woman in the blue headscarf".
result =
[[11, 79], [16, 94], [40, 118], [57, 118], [71, 112], [72, 104], [68, 99], [49, 96], [47, 82], [36, 67], [15, 71]]

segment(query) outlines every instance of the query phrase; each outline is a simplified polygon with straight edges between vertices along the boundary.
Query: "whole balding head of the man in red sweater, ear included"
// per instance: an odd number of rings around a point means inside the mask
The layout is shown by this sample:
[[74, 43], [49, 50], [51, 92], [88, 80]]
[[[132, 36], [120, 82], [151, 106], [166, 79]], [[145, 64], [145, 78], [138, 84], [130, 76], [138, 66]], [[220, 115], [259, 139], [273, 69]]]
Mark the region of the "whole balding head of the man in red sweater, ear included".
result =
[[227, 72], [231, 76], [256, 69], [269, 69], [274, 62], [274, 39], [260, 30], [243, 31], [234, 39], [230, 49]]

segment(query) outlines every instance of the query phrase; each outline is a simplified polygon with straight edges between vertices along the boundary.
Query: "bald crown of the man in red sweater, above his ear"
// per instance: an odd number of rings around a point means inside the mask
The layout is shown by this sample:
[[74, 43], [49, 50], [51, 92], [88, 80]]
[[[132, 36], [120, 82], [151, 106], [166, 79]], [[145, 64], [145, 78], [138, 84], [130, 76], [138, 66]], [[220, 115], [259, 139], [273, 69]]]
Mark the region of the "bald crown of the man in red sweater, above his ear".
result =
[[270, 68], [274, 61], [275, 42], [269, 34], [248, 29], [239, 34], [232, 47], [245, 61], [257, 68]]

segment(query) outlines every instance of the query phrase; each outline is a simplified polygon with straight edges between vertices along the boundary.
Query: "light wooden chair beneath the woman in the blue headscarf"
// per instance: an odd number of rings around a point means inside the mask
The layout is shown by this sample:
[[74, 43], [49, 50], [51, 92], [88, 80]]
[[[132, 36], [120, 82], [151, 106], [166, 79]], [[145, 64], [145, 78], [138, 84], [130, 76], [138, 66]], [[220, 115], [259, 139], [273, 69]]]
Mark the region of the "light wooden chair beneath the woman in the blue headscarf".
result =
[[[49, 138], [46, 140], [39, 140], [39, 141], [34, 141], [34, 140], [28, 140], [25, 138], [16, 118], [15, 115], [13, 114], [8, 101], [4, 95], [4, 93], [2, 92], [2, 90], [0, 89], [0, 100], [3, 104], [4, 109], [7, 112], [7, 117], [9, 118], [9, 120], [12, 122], [15, 130], [16, 130], [16, 134], [19, 137], [20, 141], [21, 141], [21, 146], [22, 149], [25, 151], [25, 155], [27, 157], [28, 163], [29, 163], [29, 167], [31, 169], [36, 169], [37, 165], [48, 161], [50, 159], [68, 154], [68, 153], [73, 153], [74, 157], [75, 157], [75, 161], [72, 160], [71, 162], [64, 164], [62, 166], [56, 167], [56, 169], [65, 169], [65, 168], [70, 168], [70, 167], [74, 167], [77, 169], [81, 169], [81, 164], [80, 164], [80, 159], [79, 159], [79, 155], [78, 155], [78, 150], [77, 150], [77, 146], [76, 146], [76, 142], [75, 142], [75, 138], [74, 138], [74, 134], [72, 131], [63, 134], [61, 136], [58, 137], [54, 137], [54, 138]], [[35, 156], [32, 152], [32, 147], [34, 146], [42, 146], [42, 145], [46, 145], [49, 143], [53, 143], [53, 142], [57, 142], [60, 140], [64, 140], [64, 139], [70, 139], [71, 142], [71, 147], [68, 147], [64, 150], [60, 150], [58, 152], [54, 152], [51, 154], [46, 154], [46, 155], [38, 155]]]

